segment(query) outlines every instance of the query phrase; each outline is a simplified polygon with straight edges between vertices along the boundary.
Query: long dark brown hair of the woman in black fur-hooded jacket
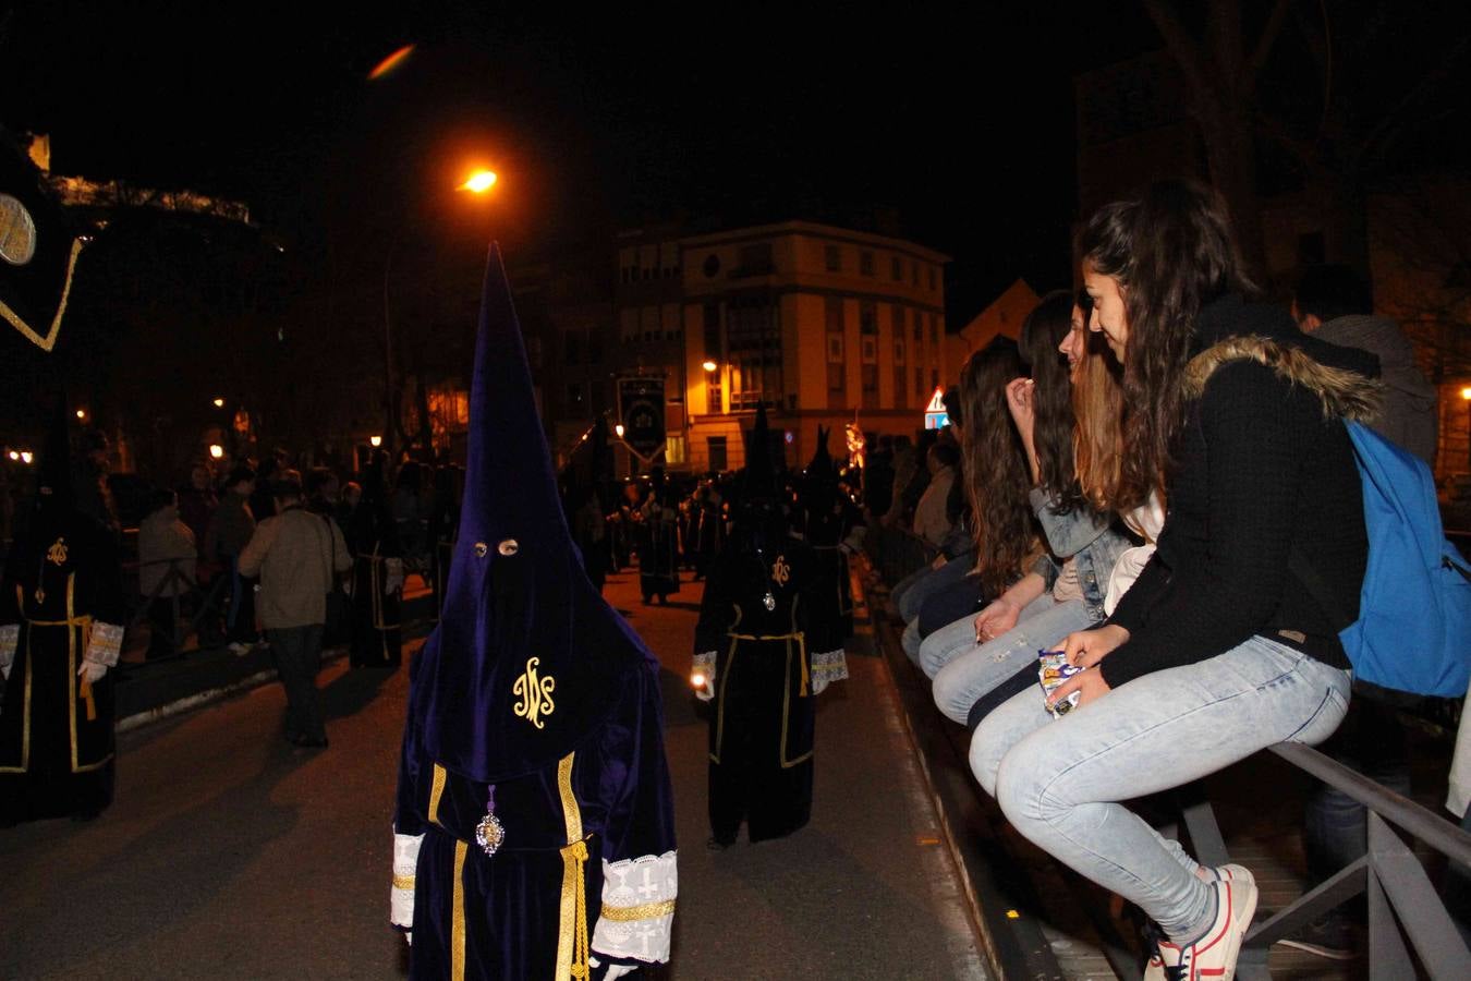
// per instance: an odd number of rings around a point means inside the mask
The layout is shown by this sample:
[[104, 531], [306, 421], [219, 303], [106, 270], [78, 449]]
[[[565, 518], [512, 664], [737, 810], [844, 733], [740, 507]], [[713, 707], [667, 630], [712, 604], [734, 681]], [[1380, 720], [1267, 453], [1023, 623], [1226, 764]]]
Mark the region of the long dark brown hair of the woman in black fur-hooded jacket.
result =
[[1162, 491], [1174, 469], [1196, 315], [1250, 282], [1224, 201], [1194, 181], [1159, 181], [1105, 204], [1078, 234], [1077, 256], [1124, 293], [1124, 454], [1109, 504], [1125, 512]]

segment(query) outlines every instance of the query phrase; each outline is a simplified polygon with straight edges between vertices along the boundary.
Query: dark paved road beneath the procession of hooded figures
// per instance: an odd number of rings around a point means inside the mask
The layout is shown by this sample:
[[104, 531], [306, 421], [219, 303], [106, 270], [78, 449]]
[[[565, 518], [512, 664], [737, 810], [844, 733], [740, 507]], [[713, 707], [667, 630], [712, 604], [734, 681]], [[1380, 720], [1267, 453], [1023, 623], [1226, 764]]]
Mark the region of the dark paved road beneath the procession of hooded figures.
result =
[[[675, 955], [660, 977], [978, 978], [959, 882], [883, 663], [822, 696], [816, 805], [791, 838], [703, 847], [705, 724], [688, 669], [699, 584], [625, 609], [665, 663], [680, 834]], [[862, 646], [858, 640], [858, 646]], [[321, 684], [332, 746], [279, 737], [278, 685], [122, 738], [93, 824], [0, 831], [0, 978], [397, 978], [390, 810], [406, 672]]]

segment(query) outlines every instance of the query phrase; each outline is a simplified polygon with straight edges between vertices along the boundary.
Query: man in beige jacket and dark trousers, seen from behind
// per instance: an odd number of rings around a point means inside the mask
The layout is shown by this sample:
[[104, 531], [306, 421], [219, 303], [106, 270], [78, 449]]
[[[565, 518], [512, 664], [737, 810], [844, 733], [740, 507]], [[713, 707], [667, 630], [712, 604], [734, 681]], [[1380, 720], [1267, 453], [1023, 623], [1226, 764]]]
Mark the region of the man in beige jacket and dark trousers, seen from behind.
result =
[[285, 688], [285, 738], [296, 746], [325, 747], [316, 671], [327, 591], [335, 574], [352, 568], [352, 556], [337, 524], [306, 510], [296, 471], [281, 471], [271, 496], [277, 515], [262, 521], [250, 537], [240, 553], [240, 572], [260, 575], [260, 624]]

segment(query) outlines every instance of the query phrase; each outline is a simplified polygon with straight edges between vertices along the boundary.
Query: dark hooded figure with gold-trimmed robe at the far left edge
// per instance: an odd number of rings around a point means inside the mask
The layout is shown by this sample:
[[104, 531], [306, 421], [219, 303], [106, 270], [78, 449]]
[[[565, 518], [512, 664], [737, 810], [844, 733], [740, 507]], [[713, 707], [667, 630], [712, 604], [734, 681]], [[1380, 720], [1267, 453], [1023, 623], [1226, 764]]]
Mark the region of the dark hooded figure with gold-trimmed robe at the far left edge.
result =
[[112, 803], [122, 568], [112, 531], [76, 509], [66, 418], [62, 397], [0, 582], [0, 824]]

